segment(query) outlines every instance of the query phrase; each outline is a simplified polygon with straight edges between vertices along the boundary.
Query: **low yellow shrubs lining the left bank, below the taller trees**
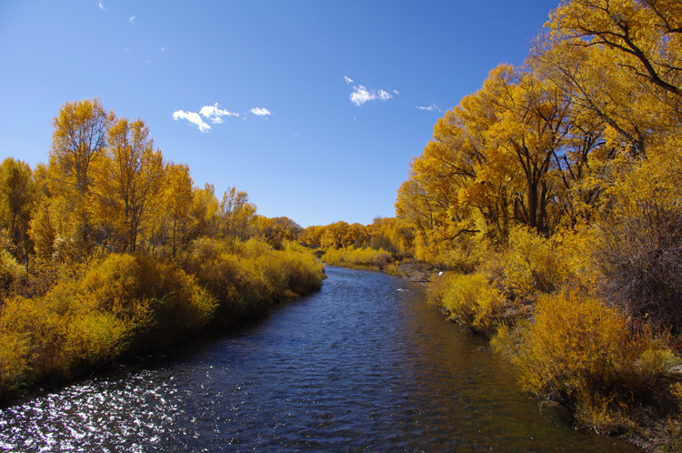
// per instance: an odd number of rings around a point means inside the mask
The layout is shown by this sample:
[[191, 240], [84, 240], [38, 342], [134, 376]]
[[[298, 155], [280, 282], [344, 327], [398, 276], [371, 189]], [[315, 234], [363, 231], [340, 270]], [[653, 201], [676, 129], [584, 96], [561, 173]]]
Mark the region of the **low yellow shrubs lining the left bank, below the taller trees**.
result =
[[175, 260], [105, 254], [78, 267], [36, 263], [5, 285], [0, 398], [234, 326], [319, 289], [323, 277], [296, 244], [274, 250], [256, 239], [197, 239]]

